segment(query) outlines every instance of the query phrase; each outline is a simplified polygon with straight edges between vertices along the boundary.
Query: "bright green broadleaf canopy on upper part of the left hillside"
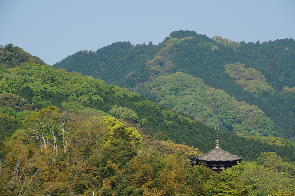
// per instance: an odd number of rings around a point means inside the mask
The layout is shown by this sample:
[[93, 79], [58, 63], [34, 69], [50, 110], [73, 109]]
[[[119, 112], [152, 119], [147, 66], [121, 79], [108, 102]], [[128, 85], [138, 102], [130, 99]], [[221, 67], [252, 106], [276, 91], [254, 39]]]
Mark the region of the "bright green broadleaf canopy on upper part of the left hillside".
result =
[[[27, 96], [31, 96], [30, 100], [35, 102], [39, 109], [40, 106], [47, 107], [50, 104], [58, 104], [60, 107], [62, 102], [72, 101], [78, 108], [68, 105], [64, 107], [77, 112], [82, 109], [81, 104], [85, 107], [91, 104], [101, 104], [97, 102], [104, 102], [100, 96], [101, 89], [106, 89], [106, 91], [113, 89], [114, 95], [119, 99], [123, 95], [128, 98], [138, 96], [136, 93], [117, 86], [108, 86], [92, 76], [83, 77], [76, 72], [66, 73], [64, 70], [59, 71], [37, 63], [29, 63], [20, 68], [9, 68], [0, 79], [0, 93], [17, 93], [21, 89], [29, 90]], [[49, 93], [51, 94], [49, 95]]]

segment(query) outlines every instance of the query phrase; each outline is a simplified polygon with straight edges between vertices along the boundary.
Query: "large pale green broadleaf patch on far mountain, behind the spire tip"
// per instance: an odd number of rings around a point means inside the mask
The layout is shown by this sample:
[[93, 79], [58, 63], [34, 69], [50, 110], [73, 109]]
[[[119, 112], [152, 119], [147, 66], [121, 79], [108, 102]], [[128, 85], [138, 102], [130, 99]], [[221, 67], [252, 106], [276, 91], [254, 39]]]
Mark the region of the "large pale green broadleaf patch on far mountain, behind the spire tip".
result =
[[273, 134], [273, 122], [257, 106], [237, 102], [223, 90], [208, 87], [203, 80], [188, 74], [159, 76], [143, 90], [149, 91], [156, 102], [197, 117], [208, 126], [214, 127], [219, 120], [221, 125], [240, 135]]

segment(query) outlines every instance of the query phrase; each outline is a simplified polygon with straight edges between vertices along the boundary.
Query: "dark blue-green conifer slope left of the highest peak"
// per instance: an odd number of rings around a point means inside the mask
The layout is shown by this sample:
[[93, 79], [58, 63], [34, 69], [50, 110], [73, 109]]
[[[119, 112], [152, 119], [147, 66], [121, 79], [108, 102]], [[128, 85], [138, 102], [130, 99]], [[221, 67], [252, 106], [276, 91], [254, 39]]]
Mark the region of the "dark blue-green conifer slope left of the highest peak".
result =
[[153, 59], [160, 47], [152, 43], [131, 45], [130, 42], [117, 42], [99, 50], [79, 51], [53, 67], [66, 71], [77, 71], [83, 75], [102, 79], [108, 84], [132, 88], [140, 79], [148, 78], [148, 72], [142, 73], [145, 61]]

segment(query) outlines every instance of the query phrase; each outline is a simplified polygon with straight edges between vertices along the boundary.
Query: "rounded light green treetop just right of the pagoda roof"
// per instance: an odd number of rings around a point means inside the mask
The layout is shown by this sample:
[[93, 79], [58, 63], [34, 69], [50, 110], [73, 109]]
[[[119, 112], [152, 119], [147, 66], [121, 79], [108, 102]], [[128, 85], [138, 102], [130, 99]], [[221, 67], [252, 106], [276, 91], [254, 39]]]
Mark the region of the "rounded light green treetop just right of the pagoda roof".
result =
[[257, 158], [256, 163], [265, 168], [281, 169], [283, 161], [281, 157], [274, 152], [263, 152]]

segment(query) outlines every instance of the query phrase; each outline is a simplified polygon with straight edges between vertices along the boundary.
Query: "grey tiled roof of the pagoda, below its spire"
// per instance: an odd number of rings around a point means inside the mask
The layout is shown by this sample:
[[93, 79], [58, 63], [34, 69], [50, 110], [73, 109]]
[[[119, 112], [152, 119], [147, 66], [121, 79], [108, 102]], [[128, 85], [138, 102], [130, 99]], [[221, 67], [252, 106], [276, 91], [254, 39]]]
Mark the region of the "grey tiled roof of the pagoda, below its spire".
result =
[[200, 161], [237, 161], [242, 159], [237, 155], [230, 154], [221, 148], [214, 148], [212, 151], [197, 157]]

